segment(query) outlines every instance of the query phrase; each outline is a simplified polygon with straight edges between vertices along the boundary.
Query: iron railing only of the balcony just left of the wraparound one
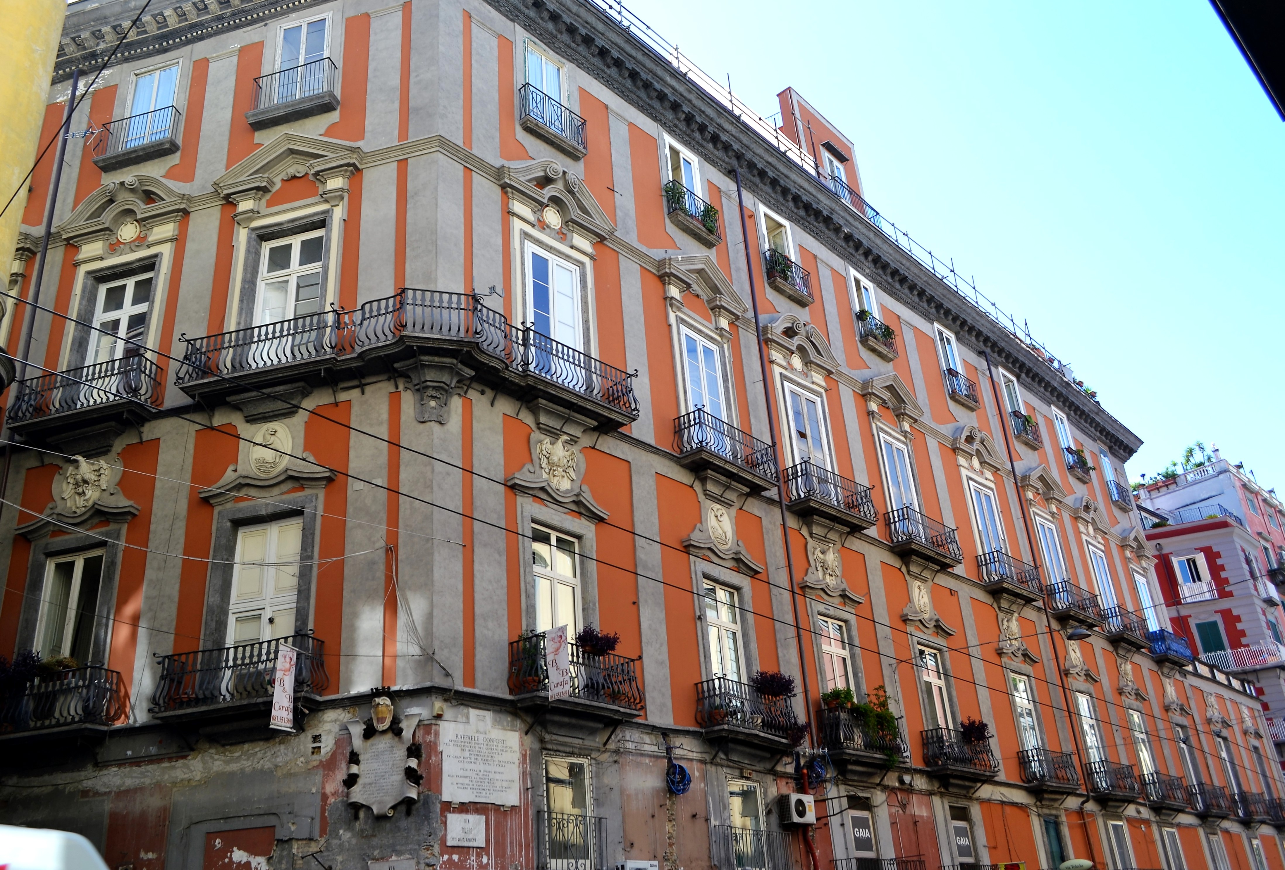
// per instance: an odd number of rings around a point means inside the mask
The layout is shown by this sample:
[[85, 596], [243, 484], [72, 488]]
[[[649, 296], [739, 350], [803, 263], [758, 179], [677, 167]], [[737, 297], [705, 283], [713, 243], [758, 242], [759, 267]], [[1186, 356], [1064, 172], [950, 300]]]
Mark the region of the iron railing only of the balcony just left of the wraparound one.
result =
[[145, 356], [122, 356], [80, 369], [46, 373], [14, 384], [9, 425], [111, 402], [161, 406], [161, 370]]

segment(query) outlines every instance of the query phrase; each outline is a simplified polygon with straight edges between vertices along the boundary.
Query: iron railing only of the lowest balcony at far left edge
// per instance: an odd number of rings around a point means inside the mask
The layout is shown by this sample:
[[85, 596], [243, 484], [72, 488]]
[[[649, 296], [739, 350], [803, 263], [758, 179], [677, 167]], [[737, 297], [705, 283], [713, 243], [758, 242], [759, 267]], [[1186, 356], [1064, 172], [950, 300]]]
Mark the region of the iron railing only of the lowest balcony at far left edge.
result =
[[128, 713], [121, 675], [94, 664], [35, 677], [0, 695], [0, 731], [120, 725]]

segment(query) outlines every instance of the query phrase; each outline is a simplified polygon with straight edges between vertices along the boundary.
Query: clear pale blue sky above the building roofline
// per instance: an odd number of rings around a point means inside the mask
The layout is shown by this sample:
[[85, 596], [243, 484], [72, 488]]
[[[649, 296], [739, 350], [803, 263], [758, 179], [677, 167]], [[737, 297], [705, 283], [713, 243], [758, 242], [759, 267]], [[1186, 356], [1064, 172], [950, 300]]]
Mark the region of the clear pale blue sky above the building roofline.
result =
[[1285, 123], [1208, 3], [635, 0], [1097, 391], [1130, 478], [1217, 443], [1285, 492]]

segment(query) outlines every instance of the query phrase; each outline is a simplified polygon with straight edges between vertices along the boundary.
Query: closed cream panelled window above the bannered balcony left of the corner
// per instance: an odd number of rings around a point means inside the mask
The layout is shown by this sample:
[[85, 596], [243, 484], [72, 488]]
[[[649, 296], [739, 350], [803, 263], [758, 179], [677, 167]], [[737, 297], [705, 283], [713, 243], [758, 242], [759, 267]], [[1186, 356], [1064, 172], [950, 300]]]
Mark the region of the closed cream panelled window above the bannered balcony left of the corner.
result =
[[253, 644], [294, 634], [303, 520], [245, 526], [236, 535], [227, 643]]

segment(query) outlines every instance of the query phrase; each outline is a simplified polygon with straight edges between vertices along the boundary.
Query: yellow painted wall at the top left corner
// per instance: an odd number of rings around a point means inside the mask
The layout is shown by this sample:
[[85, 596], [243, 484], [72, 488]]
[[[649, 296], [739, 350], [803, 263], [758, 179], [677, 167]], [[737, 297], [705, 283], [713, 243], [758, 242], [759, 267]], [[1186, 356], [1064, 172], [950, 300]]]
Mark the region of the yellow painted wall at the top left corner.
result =
[[[8, 275], [18, 238], [18, 221], [27, 204], [23, 176], [40, 148], [49, 80], [58, 57], [58, 39], [67, 17], [67, 0], [21, 0], [4, 4], [0, 15], [0, 207], [22, 185], [9, 209], [0, 216], [0, 265]], [[53, 159], [50, 149], [45, 159]]]

